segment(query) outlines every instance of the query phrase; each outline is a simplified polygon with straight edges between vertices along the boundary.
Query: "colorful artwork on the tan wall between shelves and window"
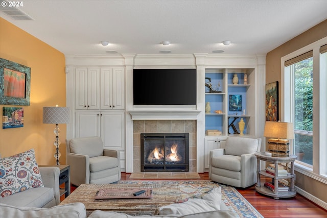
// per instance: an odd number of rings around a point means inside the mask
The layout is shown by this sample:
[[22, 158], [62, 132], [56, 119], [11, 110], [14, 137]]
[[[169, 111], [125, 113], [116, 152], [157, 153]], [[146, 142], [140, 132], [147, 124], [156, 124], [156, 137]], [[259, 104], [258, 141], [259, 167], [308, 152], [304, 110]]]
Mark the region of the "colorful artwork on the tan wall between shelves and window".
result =
[[266, 121], [278, 121], [278, 81], [266, 84]]

